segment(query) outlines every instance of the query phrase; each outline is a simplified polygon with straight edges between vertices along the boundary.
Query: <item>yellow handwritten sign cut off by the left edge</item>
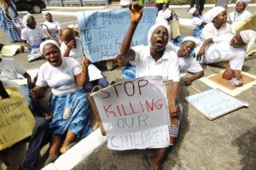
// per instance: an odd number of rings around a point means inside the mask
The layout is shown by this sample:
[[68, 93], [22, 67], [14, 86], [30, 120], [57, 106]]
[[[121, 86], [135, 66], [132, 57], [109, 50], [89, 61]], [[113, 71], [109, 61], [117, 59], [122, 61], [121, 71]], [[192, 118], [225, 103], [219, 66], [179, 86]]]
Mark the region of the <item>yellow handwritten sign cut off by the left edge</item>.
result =
[[35, 120], [16, 88], [6, 88], [10, 98], [0, 100], [0, 150], [32, 135]]

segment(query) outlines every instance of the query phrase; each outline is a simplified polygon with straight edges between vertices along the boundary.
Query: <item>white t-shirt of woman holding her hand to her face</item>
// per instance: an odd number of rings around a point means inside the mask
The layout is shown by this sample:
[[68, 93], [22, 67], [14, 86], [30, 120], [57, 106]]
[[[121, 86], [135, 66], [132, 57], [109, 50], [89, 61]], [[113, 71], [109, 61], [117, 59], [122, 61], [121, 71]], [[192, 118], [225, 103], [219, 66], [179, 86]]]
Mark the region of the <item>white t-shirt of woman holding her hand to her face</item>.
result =
[[[67, 49], [67, 46], [64, 42], [61, 42], [61, 54], [63, 55]], [[72, 48], [69, 53], [69, 57], [77, 59], [79, 63], [82, 63], [82, 55], [83, 55], [83, 48], [81, 45], [81, 40], [76, 38], [76, 48]]]

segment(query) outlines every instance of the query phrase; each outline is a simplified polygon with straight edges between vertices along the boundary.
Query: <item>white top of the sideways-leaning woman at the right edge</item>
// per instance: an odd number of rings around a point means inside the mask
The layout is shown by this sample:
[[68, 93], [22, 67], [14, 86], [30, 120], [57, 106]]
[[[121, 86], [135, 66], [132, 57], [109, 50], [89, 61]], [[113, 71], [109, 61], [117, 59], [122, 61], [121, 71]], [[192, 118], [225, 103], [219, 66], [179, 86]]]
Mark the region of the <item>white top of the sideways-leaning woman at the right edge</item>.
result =
[[232, 34], [225, 34], [220, 37], [214, 37], [214, 43], [206, 47], [205, 57], [201, 59], [201, 63], [211, 64], [228, 60], [231, 69], [241, 71], [246, 56], [246, 48], [233, 48], [230, 46], [230, 40], [233, 36]]

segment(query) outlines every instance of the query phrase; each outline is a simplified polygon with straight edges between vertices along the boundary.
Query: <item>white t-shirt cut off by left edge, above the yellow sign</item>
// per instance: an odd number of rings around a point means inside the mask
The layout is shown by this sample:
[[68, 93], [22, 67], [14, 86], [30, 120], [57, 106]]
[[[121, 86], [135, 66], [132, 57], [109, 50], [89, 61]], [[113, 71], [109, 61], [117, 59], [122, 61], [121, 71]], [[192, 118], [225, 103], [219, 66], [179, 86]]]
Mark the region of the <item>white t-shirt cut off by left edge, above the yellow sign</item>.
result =
[[26, 69], [13, 58], [2, 58], [0, 62], [0, 79], [17, 79], [24, 75]]

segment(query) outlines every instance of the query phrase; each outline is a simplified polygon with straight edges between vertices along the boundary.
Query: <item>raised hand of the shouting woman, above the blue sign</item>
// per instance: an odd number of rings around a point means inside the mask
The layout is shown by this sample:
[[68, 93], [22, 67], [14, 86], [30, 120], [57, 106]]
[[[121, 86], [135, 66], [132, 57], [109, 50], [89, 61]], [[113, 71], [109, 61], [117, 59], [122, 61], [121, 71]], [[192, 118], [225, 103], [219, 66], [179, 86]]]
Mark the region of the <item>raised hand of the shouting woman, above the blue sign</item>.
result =
[[143, 16], [143, 6], [139, 5], [138, 3], [131, 3], [129, 8], [130, 8], [131, 22], [138, 23]]

